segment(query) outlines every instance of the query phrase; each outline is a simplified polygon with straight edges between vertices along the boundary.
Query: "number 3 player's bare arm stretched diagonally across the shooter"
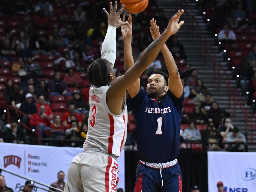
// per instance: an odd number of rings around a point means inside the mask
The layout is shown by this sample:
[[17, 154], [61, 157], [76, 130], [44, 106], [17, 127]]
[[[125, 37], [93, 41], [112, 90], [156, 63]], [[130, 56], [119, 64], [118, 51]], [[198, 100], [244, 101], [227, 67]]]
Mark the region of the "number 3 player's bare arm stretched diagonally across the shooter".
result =
[[108, 91], [109, 95], [113, 97], [123, 96], [124, 92], [138, 80], [143, 71], [155, 60], [168, 38], [175, 34], [180, 26], [183, 25], [184, 22], [178, 23], [179, 19], [177, 19], [180, 18], [183, 12], [179, 10], [169, 21], [166, 30], [140, 54], [135, 64], [123, 76], [113, 81]]

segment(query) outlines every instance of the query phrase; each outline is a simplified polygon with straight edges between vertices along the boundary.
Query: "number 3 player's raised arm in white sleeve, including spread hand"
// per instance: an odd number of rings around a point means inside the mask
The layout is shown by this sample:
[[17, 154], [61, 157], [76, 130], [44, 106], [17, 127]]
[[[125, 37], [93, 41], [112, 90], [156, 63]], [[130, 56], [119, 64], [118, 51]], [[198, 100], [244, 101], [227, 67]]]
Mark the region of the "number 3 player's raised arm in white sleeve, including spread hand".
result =
[[114, 66], [116, 60], [116, 28], [121, 25], [126, 25], [126, 22], [119, 20], [122, 11], [124, 10], [124, 5], [121, 9], [116, 12], [117, 2], [115, 1], [114, 11], [112, 7], [112, 2], [109, 2], [110, 13], [103, 8], [103, 11], [108, 17], [108, 29], [105, 39], [102, 43], [101, 58], [108, 60]]

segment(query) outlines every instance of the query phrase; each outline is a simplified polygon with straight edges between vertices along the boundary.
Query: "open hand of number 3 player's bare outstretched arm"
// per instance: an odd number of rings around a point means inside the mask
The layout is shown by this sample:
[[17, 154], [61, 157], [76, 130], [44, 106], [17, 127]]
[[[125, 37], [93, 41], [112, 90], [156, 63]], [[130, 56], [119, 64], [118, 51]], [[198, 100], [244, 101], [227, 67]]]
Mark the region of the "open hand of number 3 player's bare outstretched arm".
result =
[[179, 10], [175, 15], [173, 15], [173, 17], [171, 18], [171, 20], [169, 21], [169, 24], [166, 28], [166, 32], [171, 36], [175, 33], [178, 32], [179, 28], [181, 25], [184, 24], [184, 21], [180, 21], [179, 23], [179, 19], [180, 16], [184, 13], [184, 10], [181, 9], [181, 11]]

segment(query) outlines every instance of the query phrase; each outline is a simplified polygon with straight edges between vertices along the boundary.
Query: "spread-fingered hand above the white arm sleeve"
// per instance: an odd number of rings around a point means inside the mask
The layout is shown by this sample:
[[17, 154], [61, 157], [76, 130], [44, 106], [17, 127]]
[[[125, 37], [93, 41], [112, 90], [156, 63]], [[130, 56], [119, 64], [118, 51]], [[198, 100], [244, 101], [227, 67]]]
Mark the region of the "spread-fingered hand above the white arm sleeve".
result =
[[110, 13], [108, 13], [106, 11], [106, 9], [103, 8], [103, 11], [108, 16], [108, 26], [113, 26], [115, 28], [118, 28], [121, 25], [127, 25], [127, 22], [123, 22], [119, 19], [122, 11], [124, 10], [124, 5], [121, 7], [121, 9], [118, 12], [116, 12], [116, 9], [117, 9], [117, 2], [116, 1], [115, 1], [114, 11], [113, 11], [111, 1], [109, 2], [109, 7], [110, 7]]

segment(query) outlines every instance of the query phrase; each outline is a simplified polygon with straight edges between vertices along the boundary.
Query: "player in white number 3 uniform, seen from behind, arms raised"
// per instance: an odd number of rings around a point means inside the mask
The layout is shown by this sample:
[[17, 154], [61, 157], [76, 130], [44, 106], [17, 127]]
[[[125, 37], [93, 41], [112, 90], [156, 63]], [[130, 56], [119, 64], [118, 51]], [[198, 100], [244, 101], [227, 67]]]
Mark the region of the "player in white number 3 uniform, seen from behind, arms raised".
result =
[[[124, 6], [116, 13], [110, 2], [108, 31], [102, 45], [102, 58], [95, 60], [87, 69], [92, 84], [90, 88], [90, 114], [84, 152], [71, 162], [65, 192], [116, 191], [118, 165], [116, 158], [124, 146], [127, 128], [125, 92], [135, 83], [143, 71], [153, 62], [163, 44], [172, 35], [174, 19], [161, 36], [150, 44], [123, 76], [115, 77], [115, 32], [120, 25], [131, 25], [119, 20]], [[104, 59], [105, 58], [105, 59]]]

